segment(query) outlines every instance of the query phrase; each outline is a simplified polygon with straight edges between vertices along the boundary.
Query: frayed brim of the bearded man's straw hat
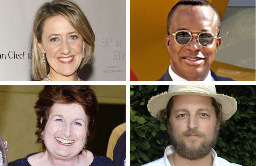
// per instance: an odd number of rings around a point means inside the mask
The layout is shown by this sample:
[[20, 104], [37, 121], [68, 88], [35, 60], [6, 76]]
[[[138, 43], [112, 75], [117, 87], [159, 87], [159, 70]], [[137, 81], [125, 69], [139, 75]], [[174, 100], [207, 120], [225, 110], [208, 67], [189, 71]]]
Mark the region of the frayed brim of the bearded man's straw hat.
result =
[[222, 117], [224, 120], [228, 120], [237, 109], [237, 102], [233, 97], [224, 94], [206, 94], [202, 92], [164, 92], [157, 96], [153, 96], [148, 102], [148, 111], [152, 116], [159, 119], [159, 113], [167, 107], [169, 100], [176, 95], [200, 95], [213, 97], [216, 102], [222, 106]]

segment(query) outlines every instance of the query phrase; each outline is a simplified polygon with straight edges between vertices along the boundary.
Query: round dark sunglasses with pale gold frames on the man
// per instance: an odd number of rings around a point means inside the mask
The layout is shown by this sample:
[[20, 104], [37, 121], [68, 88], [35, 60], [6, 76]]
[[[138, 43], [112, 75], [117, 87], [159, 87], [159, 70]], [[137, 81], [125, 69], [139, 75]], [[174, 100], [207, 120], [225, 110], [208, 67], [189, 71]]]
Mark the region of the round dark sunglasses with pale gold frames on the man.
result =
[[175, 41], [179, 45], [187, 45], [192, 40], [192, 36], [197, 36], [196, 40], [200, 45], [204, 47], [210, 46], [213, 43], [214, 39], [217, 38], [217, 36], [215, 37], [210, 32], [201, 32], [199, 34], [192, 34], [187, 30], [177, 31], [176, 33], [172, 33], [172, 35], [174, 36]]

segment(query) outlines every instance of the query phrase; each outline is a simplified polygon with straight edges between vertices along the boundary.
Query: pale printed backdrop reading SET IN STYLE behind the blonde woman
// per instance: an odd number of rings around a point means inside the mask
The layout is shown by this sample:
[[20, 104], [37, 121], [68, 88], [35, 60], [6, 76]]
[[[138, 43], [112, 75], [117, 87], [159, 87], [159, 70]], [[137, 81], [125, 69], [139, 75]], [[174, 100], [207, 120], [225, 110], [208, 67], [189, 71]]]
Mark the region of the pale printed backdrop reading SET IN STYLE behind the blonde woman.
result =
[[[79, 77], [126, 80], [126, 0], [74, 0], [95, 34], [95, 57]], [[37, 9], [46, 0], [1, 0], [0, 81], [30, 81], [30, 40]]]

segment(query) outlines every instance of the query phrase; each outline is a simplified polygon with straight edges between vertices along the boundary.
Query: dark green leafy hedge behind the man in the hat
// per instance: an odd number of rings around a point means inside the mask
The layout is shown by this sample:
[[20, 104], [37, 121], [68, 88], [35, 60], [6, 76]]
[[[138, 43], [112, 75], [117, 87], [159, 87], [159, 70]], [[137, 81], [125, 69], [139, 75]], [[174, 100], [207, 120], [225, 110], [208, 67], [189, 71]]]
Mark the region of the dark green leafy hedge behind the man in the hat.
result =
[[[165, 123], [147, 111], [148, 100], [168, 91], [168, 85], [130, 86], [130, 165], [163, 157], [169, 143]], [[256, 85], [216, 85], [220, 94], [237, 101], [237, 111], [220, 129], [219, 157], [243, 166], [256, 166]]]

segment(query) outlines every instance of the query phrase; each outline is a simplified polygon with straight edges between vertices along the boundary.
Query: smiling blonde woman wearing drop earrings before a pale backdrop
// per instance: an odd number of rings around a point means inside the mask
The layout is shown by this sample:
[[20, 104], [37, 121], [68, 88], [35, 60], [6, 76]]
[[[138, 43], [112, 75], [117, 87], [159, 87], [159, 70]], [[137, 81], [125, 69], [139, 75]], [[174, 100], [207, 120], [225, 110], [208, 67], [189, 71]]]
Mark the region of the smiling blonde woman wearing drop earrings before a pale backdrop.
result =
[[77, 73], [92, 60], [95, 35], [75, 2], [53, 0], [36, 12], [32, 34], [32, 78], [81, 81]]

